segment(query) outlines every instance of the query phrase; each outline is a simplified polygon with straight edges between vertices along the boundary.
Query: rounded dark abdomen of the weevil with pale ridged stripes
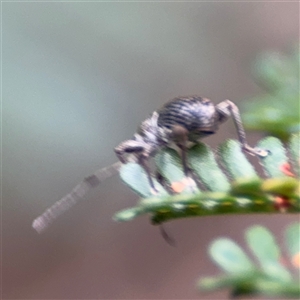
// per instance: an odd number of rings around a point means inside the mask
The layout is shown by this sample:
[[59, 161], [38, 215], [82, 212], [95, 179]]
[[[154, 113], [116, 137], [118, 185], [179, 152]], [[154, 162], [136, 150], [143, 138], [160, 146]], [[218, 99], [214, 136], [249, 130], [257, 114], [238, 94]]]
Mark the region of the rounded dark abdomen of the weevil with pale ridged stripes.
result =
[[199, 96], [175, 98], [166, 103], [158, 114], [159, 127], [171, 130], [174, 125], [181, 125], [187, 129], [191, 142], [197, 142], [218, 129], [219, 114], [215, 105]]

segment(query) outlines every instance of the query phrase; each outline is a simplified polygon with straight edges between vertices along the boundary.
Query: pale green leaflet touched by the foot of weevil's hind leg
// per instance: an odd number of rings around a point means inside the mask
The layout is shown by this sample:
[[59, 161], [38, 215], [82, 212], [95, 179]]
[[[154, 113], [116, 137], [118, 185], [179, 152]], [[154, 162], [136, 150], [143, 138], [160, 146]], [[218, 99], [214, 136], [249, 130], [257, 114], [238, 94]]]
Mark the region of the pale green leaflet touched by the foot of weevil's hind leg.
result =
[[261, 158], [261, 163], [264, 170], [269, 177], [282, 177], [286, 176], [282, 172], [282, 166], [288, 161], [285, 149], [277, 138], [267, 137], [261, 140], [257, 147], [270, 150], [268, 156]]

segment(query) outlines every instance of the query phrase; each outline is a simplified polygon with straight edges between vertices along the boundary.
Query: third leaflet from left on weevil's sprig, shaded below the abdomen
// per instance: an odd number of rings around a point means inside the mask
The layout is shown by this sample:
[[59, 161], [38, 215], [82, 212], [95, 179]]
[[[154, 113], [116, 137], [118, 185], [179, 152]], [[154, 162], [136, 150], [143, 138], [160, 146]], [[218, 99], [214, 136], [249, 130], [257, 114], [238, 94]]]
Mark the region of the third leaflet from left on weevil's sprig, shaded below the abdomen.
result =
[[228, 191], [229, 182], [207, 145], [201, 143], [192, 147], [188, 152], [188, 160], [192, 169], [210, 191]]

